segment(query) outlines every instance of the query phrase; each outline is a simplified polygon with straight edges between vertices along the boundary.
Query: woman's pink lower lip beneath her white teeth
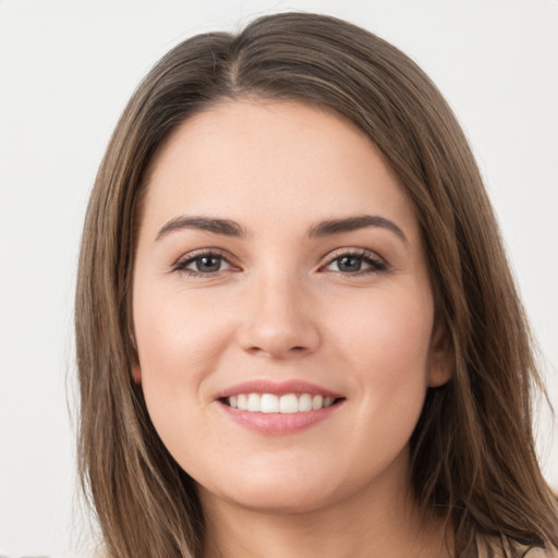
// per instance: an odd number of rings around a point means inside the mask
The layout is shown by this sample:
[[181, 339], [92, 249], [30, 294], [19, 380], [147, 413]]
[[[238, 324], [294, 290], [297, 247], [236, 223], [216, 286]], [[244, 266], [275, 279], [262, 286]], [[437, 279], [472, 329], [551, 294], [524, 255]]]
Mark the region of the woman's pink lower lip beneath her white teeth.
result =
[[242, 426], [267, 436], [284, 436], [310, 428], [336, 413], [342, 403], [342, 401], [338, 401], [316, 411], [300, 413], [254, 413], [233, 409], [220, 401], [218, 402], [230, 418]]

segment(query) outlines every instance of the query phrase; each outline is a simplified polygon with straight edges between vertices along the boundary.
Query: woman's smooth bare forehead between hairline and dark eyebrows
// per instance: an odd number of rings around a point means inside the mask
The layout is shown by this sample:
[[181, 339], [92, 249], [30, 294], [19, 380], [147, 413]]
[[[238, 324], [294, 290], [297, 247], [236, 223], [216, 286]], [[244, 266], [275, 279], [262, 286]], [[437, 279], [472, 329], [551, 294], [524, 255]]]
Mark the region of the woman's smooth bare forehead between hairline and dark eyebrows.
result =
[[364, 132], [331, 111], [263, 100], [222, 102], [181, 124], [151, 165], [144, 207], [146, 225], [265, 215], [306, 228], [363, 213], [417, 233], [397, 175]]

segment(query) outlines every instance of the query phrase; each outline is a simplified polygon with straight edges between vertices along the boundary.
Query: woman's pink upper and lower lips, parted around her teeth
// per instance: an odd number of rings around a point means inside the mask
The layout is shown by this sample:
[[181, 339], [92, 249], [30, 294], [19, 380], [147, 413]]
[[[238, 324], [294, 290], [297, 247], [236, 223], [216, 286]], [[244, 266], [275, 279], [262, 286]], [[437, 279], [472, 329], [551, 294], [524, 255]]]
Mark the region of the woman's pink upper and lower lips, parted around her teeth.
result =
[[[276, 396], [310, 393], [312, 396], [330, 397], [337, 402], [316, 411], [284, 414], [242, 411], [225, 403], [225, 399], [240, 393], [274, 393]], [[219, 391], [215, 397], [215, 403], [229, 420], [241, 426], [265, 436], [286, 436], [310, 428], [336, 414], [343, 405], [344, 397], [304, 380], [270, 381], [268, 379], [255, 379]]]

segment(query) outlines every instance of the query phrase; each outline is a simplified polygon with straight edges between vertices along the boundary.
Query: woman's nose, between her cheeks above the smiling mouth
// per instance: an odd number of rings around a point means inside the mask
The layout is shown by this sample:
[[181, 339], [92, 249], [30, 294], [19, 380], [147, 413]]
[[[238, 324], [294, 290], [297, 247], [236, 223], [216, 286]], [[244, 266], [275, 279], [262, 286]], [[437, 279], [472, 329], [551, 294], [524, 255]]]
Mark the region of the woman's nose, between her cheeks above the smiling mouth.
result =
[[274, 277], [247, 289], [246, 313], [239, 329], [244, 351], [271, 359], [293, 359], [320, 343], [318, 316], [300, 281]]

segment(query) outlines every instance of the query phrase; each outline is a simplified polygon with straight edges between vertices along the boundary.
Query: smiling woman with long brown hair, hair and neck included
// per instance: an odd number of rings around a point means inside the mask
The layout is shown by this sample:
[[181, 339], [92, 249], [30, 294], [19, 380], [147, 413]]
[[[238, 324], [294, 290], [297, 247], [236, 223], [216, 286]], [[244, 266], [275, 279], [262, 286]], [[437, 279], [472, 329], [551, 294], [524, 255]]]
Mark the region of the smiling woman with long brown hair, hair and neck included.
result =
[[476, 165], [361, 28], [278, 14], [156, 65], [92, 194], [76, 341], [108, 556], [555, 556]]

